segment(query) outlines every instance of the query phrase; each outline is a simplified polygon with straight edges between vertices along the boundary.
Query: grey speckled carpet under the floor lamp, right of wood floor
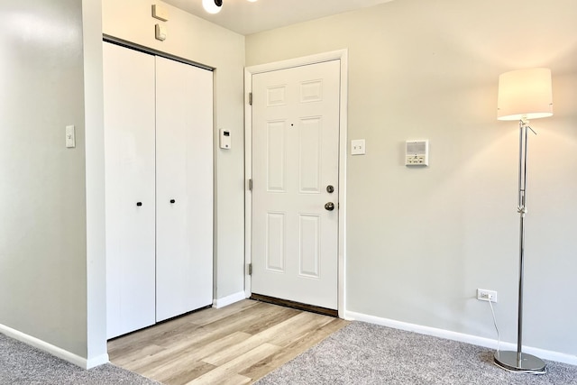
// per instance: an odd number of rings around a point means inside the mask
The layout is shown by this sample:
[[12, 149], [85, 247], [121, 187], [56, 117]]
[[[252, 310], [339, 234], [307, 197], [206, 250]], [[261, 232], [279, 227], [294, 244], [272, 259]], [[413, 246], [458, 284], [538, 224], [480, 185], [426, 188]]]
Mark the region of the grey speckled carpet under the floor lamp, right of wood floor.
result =
[[543, 375], [505, 371], [493, 351], [379, 325], [353, 322], [258, 385], [577, 385], [577, 366], [547, 362]]

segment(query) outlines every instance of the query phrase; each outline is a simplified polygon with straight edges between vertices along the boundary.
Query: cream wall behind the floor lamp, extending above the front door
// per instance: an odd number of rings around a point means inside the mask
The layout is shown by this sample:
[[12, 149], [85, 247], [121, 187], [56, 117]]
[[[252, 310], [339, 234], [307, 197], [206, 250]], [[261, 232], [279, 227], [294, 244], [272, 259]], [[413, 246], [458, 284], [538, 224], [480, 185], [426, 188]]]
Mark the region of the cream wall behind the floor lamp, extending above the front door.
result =
[[[351, 312], [496, 338], [477, 288], [517, 338], [517, 123], [501, 72], [549, 67], [554, 116], [530, 140], [524, 343], [575, 354], [577, 4], [397, 0], [246, 37], [246, 65], [349, 50], [347, 304]], [[429, 139], [409, 169], [406, 140]]]

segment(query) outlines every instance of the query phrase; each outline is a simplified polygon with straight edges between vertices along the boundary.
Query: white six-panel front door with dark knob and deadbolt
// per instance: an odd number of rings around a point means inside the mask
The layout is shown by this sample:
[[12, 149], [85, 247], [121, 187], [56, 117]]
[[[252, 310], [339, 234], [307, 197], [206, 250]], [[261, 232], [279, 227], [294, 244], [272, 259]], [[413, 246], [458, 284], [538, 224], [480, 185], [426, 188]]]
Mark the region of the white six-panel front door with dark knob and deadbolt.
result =
[[337, 308], [340, 60], [252, 76], [252, 293]]

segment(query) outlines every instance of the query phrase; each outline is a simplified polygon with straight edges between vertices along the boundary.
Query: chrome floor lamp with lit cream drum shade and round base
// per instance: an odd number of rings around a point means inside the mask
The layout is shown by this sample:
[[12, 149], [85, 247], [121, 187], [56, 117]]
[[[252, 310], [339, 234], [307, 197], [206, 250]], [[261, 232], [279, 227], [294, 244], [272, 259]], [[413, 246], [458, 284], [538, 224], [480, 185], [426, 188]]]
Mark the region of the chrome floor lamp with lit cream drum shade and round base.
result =
[[519, 294], [517, 318], [517, 352], [495, 353], [495, 363], [509, 371], [545, 373], [545, 362], [522, 353], [523, 341], [523, 270], [525, 264], [525, 215], [527, 214], [527, 134], [535, 133], [529, 119], [553, 115], [550, 69], [520, 69], [499, 76], [499, 120], [519, 122]]

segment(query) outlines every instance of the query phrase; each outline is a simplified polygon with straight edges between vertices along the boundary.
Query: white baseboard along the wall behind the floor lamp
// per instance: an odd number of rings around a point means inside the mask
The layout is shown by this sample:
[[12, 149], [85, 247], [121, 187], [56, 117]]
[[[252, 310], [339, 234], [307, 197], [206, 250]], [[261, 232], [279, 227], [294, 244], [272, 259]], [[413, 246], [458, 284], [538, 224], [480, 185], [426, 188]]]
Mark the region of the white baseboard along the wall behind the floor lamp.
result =
[[[346, 311], [344, 313], [345, 319], [351, 321], [362, 321], [369, 324], [382, 325], [392, 327], [393, 329], [406, 330], [408, 332], [418, 333], [420, 335], [432, 335], [447, 340], [458, 341], [465, 344], [474, 344], [478, 346], [487, 347], [490, 349], [497, 349], [497, 341], [490, 338], [478, 337], [476, 335], [465, 335], [463, 333], [451, 332], [449, 330], [437, 329], [435, 327], [408, 324], [406, 322], [395, 321], [393, 319], [381, 318], [379, 316], [369, 316], [353, 311]], [[503, 343], [499, 345], [501, 351], [517, 350], [517, 344]], [[536, 355], [543, 360], [568, 363], [570, 365], [577, 365], [577, 356], [567, 353], [553, 352], [545, 349], [539, 349], [531, 346], [523, 346], [523, 352]]]

